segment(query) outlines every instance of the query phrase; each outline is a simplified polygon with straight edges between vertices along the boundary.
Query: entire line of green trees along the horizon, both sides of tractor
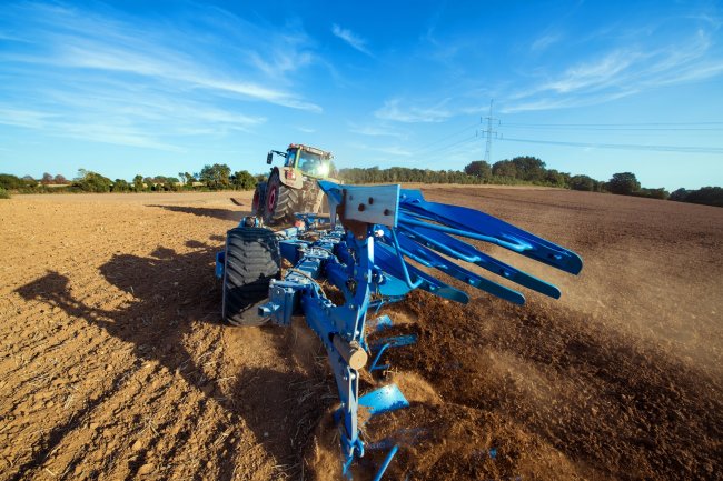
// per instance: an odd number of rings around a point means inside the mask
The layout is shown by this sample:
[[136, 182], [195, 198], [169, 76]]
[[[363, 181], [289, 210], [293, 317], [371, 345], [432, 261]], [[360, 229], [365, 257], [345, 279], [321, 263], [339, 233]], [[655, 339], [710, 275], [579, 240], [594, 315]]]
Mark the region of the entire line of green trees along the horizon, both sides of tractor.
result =
[[[200, 172], [178, 172], [178, 177], [143, 177], [131, 180], [111, 180], [98, 172], [80, 169], [78, 176], [67, 180], [63, 176], [44, 173], [36, 180], [30, 176], [18, 178], [0, 173], [0, 198], [7, 191], [16, 192], [156, 192], [181, 190], [251, 190], [266, 174], [252, 176], [246, 170], [232, 172], [225, 163], [205, 166]], [[618, 172], [607, 181], [584, 174], [571, 174], [547, 169], [545, 162], [532, 156], [505, 159], [494, 164], [484, 160], [469, 162], [463, 170], [430, 170], [405, 167], [388, 169], [350, 168], [334, 172], [347, 183], [460, 183], [460, 184], [533, 184], [557, 187], [590, 192], [610, 192], [623, 196], [670, 199], [679, 202], [723, 207], [723, 188], [704, 187], [699, 190], [677, 189], [670, 193], [663, 188], [645, 188], [632, 172]]]

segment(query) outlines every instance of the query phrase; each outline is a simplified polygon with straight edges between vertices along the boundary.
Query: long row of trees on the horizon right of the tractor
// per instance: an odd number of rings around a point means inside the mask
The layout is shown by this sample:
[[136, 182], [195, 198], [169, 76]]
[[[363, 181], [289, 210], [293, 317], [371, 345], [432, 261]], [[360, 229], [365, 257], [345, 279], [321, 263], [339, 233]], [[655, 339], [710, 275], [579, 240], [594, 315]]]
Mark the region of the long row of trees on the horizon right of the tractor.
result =
[[547, 169], [545, 162], [532, 156], [505, 159], [492, 166], [484, 160], [475, 160], [465, 166], [464, 170], [409, 169], [404, 167], [341, 169], [339, 170], [339, 178], [349, 183], [533, 184], [652, 199], [670, 199], [709, 206], [723, 204], [723, 189], [720, 187], [704, 187], [700, 190], [690, 191], [679, 189], [670, 193], [663, 188], [642, 187], [632, 172], [618, 172], [613, 174], [610, 180], [601, 181], [590, 176]]

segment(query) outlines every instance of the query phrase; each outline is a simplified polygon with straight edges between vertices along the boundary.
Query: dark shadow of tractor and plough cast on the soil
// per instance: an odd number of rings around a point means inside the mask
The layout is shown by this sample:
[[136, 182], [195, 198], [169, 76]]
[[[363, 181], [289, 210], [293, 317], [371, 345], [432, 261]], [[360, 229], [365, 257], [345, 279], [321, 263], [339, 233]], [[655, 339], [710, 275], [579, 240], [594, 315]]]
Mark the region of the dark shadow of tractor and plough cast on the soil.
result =
[[[207, 209], [198, 210], [207, 211]], [[234, 218], [239, 214], [230, 210], [212, 209], [211, 211], [216, 214], [232, 213]], [[219, 240], [218, 237], [211, 239]], [[198, 339], [199, 321], [220, 328], [221, 292], [212, 274], [215, 253], [220, 248], [200, 241], [188, 241], [186, 247], [192, 250], [188, 253], [178, 253], [172, 249], [158, 247], [149, 257], [115, 254], [101, 265], [99, 271], [111, 285], [132, 295], [132, 301], [125, 302], [115, 310], [89, 305], [78, 300], [71, 290], [71, 279], [56, 271], [50, 271], [42, 278], [17, 289], [17, 292], [26, 300], [41, 301], [60, 308], [68, 315], [82, 319], [89, 324], [101, 328], [108, 334], [132, 344], [132, 353], [140, 364], [146, 361], [157, 361], [170, 372], [180, 373], [188, 385], [202, 392], [208, 400], [218, 401], [229, 412], [230, 419], [242, 419], [256, 439], [264, 443], [266, 452], [275, 458], [278, 464], [287, 464], [289, 467], [287, 474], [294, 477], [300, 470], [301, 453], [308, 441], [307, 437], [314, 430], [321, 411], [330, 403], [330, 401], [327, 404], [319, 402], [316, 395], [317, 391], [328, 391], [324, 374], [317, 375], [313, 369], [294, 367], [294, 357], [289, 355], [289, 350], [298, 339], [290, 329], [224, 327], [222, 329], [239, 332], [239, 344], [236, 345], [240, 345], [245, 335], [267, 337], [277, 357], [280, 359], [288, 357], [293, 365], [286, 370], [283, 365], [278, 369], [276, 367], [251, 368], [240, 363], [234, 365], [238, 370], [234, 372], [235, 380], [221, 385], [215, 383], [214, 379], [209, 379], [214, 374], [205, 373], [202, 365], [208, 359], [199, 357], [198, 351], [189, 351], [186, 343], [189, 337], [196, 335], [195, 339]], [[244, 329], [255, 330], [256, 333], [244, 333]], [[226, 331], [220, 330], [216, 334], [217, 339], [209, 341], [208, 338], [212, 338], [215, 333], [201, 332], [200, 335], [204, 334], [207, 340], [201, 342], [209, 342], [211, 347], [215, 342], [224, 342], [227, 335]], [[265, 348], [269, 348], [268, 342]], [[234, 354], [234, 352], [222, 352], [219, 363], [229, 362]], [[42, 467], [49, 453], [62, 442], [65, 433], [78, 428], [83, 418], [91, 415], [93, 409], [103, 399], [112, 397], [120, 389], [125, 375], [127, 373], [118, 373], [117, 382], [113, 381], [111, 390], [103, 393], [98, 402], [83, 408], [67, 423], [53, 427], [43, 437], [41, 448], [33, 453], [30, 461], [19, 467], [18, 477], [14, 479], [21, 479], [23, 473]], [[306, 395], [305, 401], [299, 401], [298, 395], [308, 393], [314, 395]], [[289, 439], [291, 439], [290, 443]], [[182, 443], [181, 439], [160, 455], [169, 461], [181, 449], [179, 443]], [[220, 470], [219, 479], [232, 479], [237, 453], [242, 452], [242, 448], [247, 447], [222, 445], [221, 448], [224, 449], [209, 451], [208, 455], [217, 457], [212, 462]], [[137, 471], [141, 463], [137, 464], [130, 467], [131, 478], [139, 475]], [[206, 468], [199, 470], [195, 477], [204, 478]]]

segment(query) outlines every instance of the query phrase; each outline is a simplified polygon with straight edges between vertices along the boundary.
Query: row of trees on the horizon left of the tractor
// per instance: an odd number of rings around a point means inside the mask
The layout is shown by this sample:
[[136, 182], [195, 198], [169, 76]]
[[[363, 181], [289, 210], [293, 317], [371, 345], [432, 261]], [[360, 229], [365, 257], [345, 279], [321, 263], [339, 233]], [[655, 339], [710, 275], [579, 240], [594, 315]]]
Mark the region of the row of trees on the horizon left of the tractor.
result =
[[179, 172], [178, 177], [143, 177], [137, 174], [131, 180], [111, 180], [98, 172], [80, 169], [78, 176], [67, 180], [63, 176], [44, 173], [37, 180], [30, 176], [0, 173], [0, 196], [2, 192], [175, 192], [181, 190], [251, 190], [258, 181], [246, 170], [231, 172], [231, 168], [215, 163], [205, 166], [200, 172]]

